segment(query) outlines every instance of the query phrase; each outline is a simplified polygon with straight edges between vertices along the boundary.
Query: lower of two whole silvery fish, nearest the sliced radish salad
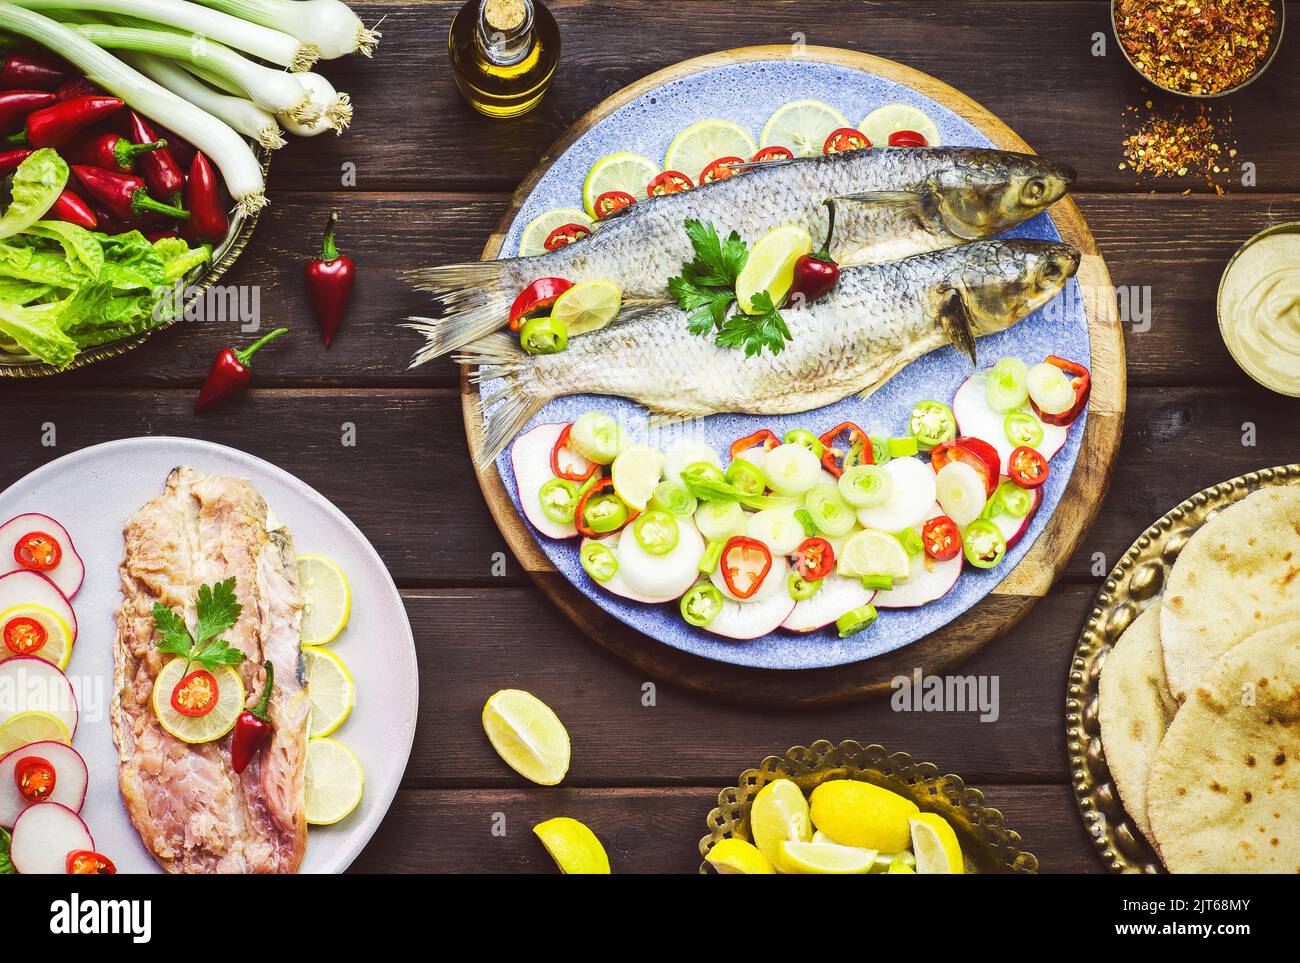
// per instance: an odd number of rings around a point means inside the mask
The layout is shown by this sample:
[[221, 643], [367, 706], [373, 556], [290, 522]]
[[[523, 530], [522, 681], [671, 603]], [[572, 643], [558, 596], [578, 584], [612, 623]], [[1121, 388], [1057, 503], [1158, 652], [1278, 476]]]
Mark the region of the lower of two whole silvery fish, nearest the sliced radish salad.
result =
[[556, 355], [525, 355], [504, 334], [456, 357], [500, 379], [484, 399], [480, 464], [499, 455], [552, 398], [619, 395], [658, 421], [718, 412], [785, 415], [876, 390], [944, 344], [975, 357], [975, 338], [1002, 331], [1052, 300], [1079, 268], [1070, 244], [1010, 238], [901, 261], [848, 268], [823, 300], [783, 312], [792, 340], [748, 357], [690, 334], [659, 308], [575, 338]]

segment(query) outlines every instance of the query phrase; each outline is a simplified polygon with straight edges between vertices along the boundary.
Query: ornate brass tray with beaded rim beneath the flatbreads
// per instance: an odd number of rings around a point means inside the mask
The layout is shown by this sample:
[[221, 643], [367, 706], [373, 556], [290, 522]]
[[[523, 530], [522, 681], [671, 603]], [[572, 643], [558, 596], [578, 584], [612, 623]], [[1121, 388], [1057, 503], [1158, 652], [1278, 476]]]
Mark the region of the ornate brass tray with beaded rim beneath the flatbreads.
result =
[[1197, 491], [1147, 529], [1112, 569], [1088, 616], [1070, 665], [1065, 702], [1066, 751], [1084, 828], [1106, 868], [1121, 873], [1164, 872], [1160, 856], [1128, 819], [1110, 780], [1097, 720], [1097, 681], [1106, 652], [1134, 619], [1160, 598], [1187, 539], [1252, 491], [1300, 485], [1300, 464], [1264, 468]]

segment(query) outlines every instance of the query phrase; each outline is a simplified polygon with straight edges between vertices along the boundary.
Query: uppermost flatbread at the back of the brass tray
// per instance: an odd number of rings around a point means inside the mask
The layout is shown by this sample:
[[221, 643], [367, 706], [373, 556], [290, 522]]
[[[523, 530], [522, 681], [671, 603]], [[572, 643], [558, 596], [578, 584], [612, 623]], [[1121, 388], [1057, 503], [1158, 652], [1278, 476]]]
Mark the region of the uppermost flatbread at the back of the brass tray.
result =
[[1187, 541], [1169, 573], [1160, 641], [1182, 702], [1223, 652], [1260, 629], [1300, 619], [1300, 486], [1262, 489]]

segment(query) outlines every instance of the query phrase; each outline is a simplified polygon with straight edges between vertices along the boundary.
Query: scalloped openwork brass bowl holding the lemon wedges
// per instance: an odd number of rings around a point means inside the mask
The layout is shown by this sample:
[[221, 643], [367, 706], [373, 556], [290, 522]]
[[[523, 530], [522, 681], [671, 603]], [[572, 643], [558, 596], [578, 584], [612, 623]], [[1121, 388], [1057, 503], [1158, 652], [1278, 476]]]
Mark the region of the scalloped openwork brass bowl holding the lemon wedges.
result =
[[[984, 804], [984, 794], [967, 786], [961, 776], [944, 776], [933, 763], [918, 763], [906, 752], [887, 752], [884, 746], [863, 746], [848, 739], [833, 746], [819, 739], [794, 746], [784, 758], [768, 756], [757, 769], [740, 775], [736, 786], [718, 794], [718, 808], [708, 814], [708, 836], [699, 841], [699, 855], [722, 840], [751, 841], [749, 807], [758, 790], [779, 778], [793, 780], [807, 795], [833, 778], [854, 778], [889, 789], [911, 799], [924, 812], [937, 812], [957, 832], [966, 858], [966, 872], [1036, 873], [1039, 860], [1020, 849], [1018, 833], [1006, 828], [1002, 814]], [[699, 872], [711, 872], [708, 863]]]

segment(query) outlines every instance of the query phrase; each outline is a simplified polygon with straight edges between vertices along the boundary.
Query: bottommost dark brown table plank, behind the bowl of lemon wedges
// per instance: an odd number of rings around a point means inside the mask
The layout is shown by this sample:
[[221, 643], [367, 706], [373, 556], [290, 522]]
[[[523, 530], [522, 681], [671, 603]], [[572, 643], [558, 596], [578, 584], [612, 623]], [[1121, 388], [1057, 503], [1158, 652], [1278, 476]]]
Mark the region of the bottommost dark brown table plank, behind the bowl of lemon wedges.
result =
[[[554, 873], [533, 827], [572, 816], [601, 838], [615, 873], [693, 873], [722, 788], [403, 791], [351, 872]], [[985, 795], [1040, 872], [1101, 869], [1069, 788], [992, 786]], [[495, 814], [504, 836], [493, 834]]]

